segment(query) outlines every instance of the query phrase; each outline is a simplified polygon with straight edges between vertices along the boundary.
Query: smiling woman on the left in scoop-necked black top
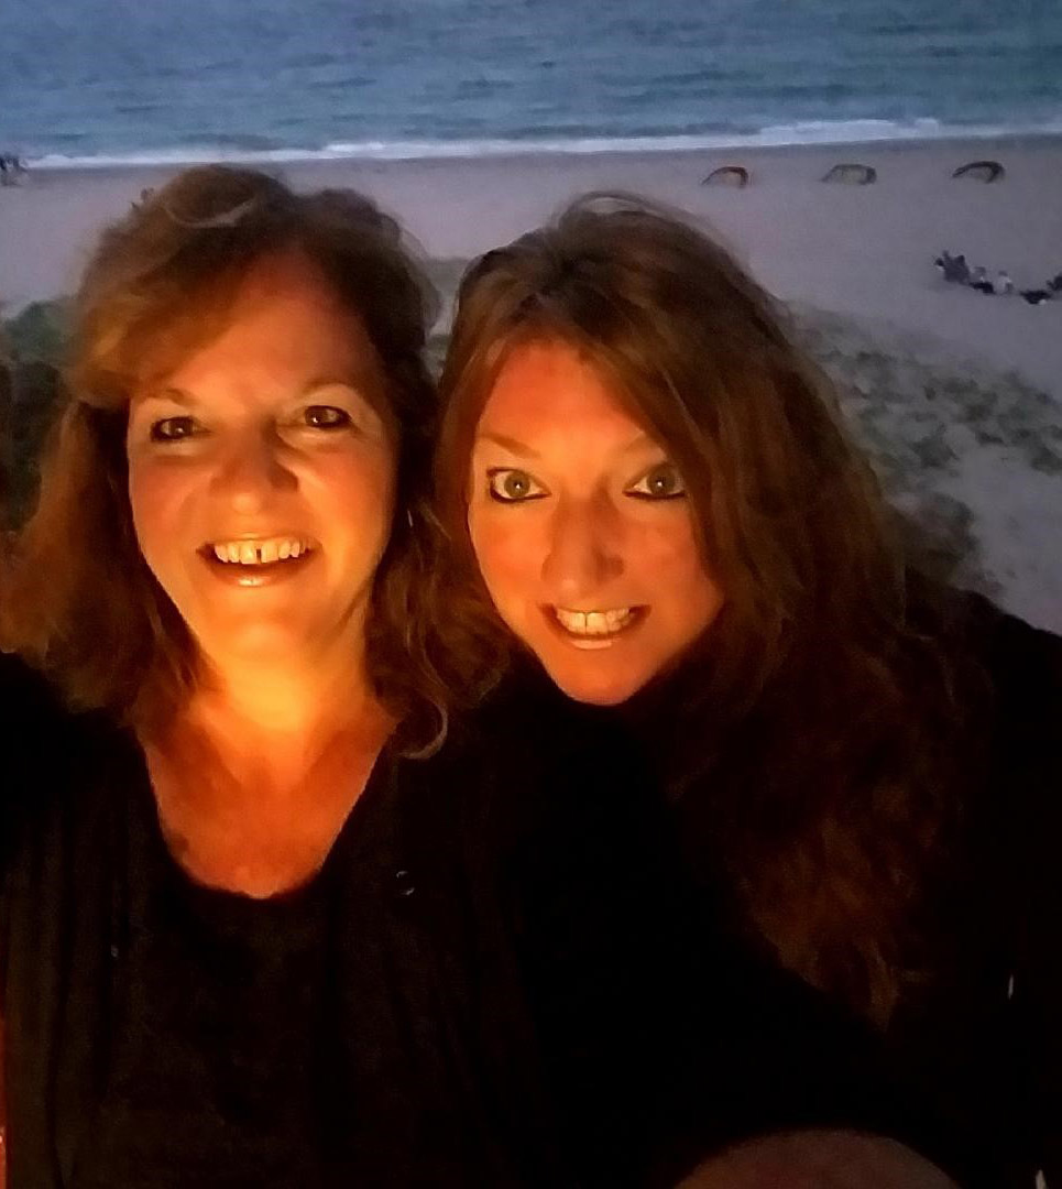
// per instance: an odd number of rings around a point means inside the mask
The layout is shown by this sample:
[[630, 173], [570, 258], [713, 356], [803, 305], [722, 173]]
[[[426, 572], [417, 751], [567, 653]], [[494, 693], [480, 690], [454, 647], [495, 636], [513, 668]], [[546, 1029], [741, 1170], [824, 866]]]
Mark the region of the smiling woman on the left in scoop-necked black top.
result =
[[[12, 1185], [649, 1189], [908, 1138], [861, 1030], [689, 948], [622, 729], [551, 690], [445, 729], [430, 304], [367, 200], [220, 166], [88, 265], [0, 558]], [[940, 1182], [866, 1143], [847, 1189]]]

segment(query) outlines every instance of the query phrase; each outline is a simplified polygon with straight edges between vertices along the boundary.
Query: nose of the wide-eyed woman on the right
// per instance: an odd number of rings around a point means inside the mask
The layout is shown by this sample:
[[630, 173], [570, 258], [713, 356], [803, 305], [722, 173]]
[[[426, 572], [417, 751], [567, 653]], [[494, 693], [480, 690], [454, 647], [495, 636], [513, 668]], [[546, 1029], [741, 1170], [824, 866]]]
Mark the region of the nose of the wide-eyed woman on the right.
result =
[[586, 499], [561, 503], [550, 526], [542, 577], [555, 598], [573, 604], [590, 598], [624, 572], [615, 509]]

